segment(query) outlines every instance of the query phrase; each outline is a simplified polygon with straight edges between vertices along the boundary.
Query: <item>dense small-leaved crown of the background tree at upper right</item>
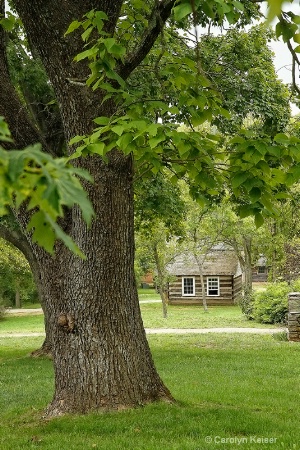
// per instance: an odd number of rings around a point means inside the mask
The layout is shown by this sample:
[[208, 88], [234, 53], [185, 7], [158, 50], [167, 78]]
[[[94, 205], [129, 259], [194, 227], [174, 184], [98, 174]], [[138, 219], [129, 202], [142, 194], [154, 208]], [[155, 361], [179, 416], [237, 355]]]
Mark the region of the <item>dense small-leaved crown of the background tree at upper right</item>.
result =
[[275, 135], [290, 118], [289, 91], [278, 79], [268, 43], [274, 35], [265, 25], [248, 32], [229, 29], [219, 36], [204, 35], [200, 58], [203, 68], [223, 97], [230, 119], [214, 123], [225, 133], [237, 133], [245, 119], [257, 132]]

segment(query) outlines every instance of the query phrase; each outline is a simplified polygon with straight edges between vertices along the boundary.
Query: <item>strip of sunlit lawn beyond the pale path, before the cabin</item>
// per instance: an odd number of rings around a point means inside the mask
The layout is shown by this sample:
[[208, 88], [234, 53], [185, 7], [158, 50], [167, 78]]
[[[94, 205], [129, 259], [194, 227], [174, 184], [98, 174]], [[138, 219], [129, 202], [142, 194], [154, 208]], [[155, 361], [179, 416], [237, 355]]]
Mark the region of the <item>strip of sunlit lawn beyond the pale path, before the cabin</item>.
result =
[[[238, 306], [212, 306], [204, 312], [201, 306], [169, 305], [168, 317], [162, 316], [161, 303], [140, 305], [145, 328], [274, 328], [249, 321]], [[43, 332], [43, 315], [14, 316], [6, 314], [0, 320], [0, 334]]]

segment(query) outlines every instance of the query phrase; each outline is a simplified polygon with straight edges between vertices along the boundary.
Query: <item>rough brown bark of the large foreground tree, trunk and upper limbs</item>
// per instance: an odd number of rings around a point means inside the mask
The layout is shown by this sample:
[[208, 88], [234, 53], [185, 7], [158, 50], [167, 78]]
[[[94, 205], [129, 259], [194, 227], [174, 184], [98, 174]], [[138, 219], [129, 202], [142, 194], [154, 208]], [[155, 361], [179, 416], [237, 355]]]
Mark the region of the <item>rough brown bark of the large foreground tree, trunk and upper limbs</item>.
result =
[[[87, 69], [85, 64], [73, 62], [82, 50], [79, 34], [65, 38], [64, 33], [72, 20], [81, 19], [93, 8], [106, 12], [109, 17], [106, 32], [113, 32], [122, 3], [14, 1], [29, 41], [38, 51], [53, 85], [66, 142], [74, 135], [89, 133], [93, 117], [109, 116], [114, 109], [107, 102], [100, 106], [102, 99], [98, 92], [72, 82], [86, 79]], [[124, 78], [151, 48], [173, 3], [162, 1], [154, 7], [148, 30], [135, 52], [119, 68]], [[9, 85], [9, 80], [5, 81]], [[0, 91], [4, 89], [2, 82]], [[16, 128], [13, 109], [4, 95], [0, 95], [0, 104], [0, 112], [20, 145], [24, 140], [26, 144], [35, 141], [38, 130], [29, 132], [29, 138], [25, 136], [30, 123], [27, 117], [22, 120], [19, 117]], [[41, 133], [40, 137], [43, 142]], [[67, 214], [63, 226], [87, 260], [76, 258], [60, 243], [54, 257], [32, 246], [53, 346], [55, 393], [46, 411], [48, 417], [172, 400], [154, 367], [138, 304], [131, 157], [112, 151], [107, 164], [95, 156], [82, 160], [81, 166], [94, 177], [94, 183], [86, 188], [96, 218], [87, 229], [75, 208]], [[19, 220], [26, 222], [24, 217]]]

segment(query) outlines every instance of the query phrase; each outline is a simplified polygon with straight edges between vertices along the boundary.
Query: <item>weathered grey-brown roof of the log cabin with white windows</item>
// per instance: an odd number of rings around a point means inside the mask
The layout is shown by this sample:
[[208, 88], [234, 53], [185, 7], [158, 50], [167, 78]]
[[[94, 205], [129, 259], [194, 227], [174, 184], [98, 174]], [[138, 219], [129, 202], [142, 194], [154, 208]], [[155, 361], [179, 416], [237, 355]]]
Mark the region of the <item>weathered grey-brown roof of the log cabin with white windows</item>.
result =
[[[201, 256], [200, 256], [201, 261]], [[202, 257], [203, 261], [203, 257]], [[196, 260], [191, 254], [182, 253], [172, 264], [168, 265], [171, 275], [185, 276], [198, 275], [199, 268]], [[203, 264], [203, 275], [241, 275], [242, 271], [236, 254], [233, 250], [216, 248], [205, 258]]]

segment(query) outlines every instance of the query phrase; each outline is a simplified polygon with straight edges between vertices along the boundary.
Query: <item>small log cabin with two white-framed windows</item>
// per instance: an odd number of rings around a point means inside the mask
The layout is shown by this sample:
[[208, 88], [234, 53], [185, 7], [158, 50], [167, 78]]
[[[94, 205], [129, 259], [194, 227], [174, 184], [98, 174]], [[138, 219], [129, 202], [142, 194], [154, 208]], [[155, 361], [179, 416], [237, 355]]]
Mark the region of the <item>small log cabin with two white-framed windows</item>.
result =
[[[242, 295], [242, 270], [233, 250], [216, 246], [202, 260], [204, 287], [208, 306], [234, 305]], [[168, 298], [173, 305], [202, 304], [199, 266], [191, 255], [180, 255], [168, 266], [173, 281]]]

